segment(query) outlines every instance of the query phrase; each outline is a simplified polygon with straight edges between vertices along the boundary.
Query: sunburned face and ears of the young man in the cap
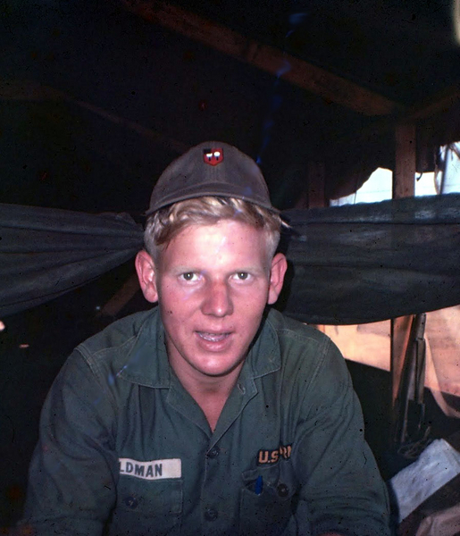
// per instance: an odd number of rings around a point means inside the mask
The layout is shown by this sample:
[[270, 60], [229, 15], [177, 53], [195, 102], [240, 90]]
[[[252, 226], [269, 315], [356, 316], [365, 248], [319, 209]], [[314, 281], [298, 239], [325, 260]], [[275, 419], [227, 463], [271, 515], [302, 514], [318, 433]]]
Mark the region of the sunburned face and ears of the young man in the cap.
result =
[[284, 255], [269, 257], [263, 230], [223, 220], [180, 231], [158, 265], [148, 258], [155, 290], [146, 297], [158, 298], [173, 369], [197, 380], [238, 373], [280, 294]]

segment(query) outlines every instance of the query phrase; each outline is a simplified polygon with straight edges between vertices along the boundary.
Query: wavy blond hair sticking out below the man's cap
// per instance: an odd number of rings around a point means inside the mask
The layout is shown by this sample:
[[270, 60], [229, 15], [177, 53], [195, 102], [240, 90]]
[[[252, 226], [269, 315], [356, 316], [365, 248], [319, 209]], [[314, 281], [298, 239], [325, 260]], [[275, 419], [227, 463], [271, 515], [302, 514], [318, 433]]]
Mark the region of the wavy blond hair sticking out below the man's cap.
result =
[[213, 225], [221, 220], [243, 222], [264, 230], [267, 253], [272, 259], [280, 241], [280, 215], [237, 197], [194, 197], [161, 208], [147, 219], [146, 251], [157, 262], [171, 239], [188, 225]]

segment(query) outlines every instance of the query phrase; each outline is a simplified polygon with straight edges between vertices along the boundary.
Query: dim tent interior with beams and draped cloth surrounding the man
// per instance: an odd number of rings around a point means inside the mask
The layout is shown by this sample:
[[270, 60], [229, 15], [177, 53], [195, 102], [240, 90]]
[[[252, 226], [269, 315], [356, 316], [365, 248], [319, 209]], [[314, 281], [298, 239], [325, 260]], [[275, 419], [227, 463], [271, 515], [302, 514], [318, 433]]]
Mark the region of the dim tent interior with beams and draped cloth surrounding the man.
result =
[[[65, 358], [148, 306], [132, 257], [151, 190], [204, 140], [253, 156], [297, 230], [286, 312], [342, 350], [385, 480], [435, 440], [460, 448], [458, 0], [4, 0], [0, 13], [0, 531], [21, 515], [39, 411]], [[377, 169], [390, 170], [388, 200], [341, 205]], [[425, 174], [434, 196], [415, 202]], [[58, 231], [80, 215], [98, 271], [7, 303], [38, 256], [31, 272], [64, 277], [64, 262], [51, 272]], [[370, 230], [389, 224], [377, 247]], [[122, 242], [105, 264], [102, 228]], [[347, 264], [350, 251], [367, 252], [372, 272]], [[444, 482], [397, 532], [455, 507], [459, 486]]]

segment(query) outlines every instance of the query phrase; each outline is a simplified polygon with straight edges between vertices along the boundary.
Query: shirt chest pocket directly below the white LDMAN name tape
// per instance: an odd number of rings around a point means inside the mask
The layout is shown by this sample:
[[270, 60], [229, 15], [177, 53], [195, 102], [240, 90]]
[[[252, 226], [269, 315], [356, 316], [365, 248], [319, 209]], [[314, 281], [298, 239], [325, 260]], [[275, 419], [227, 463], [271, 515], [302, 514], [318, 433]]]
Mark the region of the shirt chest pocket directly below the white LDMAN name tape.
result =
[[121, 476], [108, 533], [113, 536], [180, 533], [182, 480], [146, 481]]

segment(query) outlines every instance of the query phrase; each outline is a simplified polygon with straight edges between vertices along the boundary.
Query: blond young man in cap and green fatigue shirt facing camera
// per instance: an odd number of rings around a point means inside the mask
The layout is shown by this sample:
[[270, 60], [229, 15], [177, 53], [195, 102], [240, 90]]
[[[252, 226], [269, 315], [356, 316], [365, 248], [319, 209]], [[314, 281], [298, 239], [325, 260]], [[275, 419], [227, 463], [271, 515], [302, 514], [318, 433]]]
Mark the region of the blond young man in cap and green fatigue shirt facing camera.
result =
[[345, 362], [267, 310], [280, 217], [235, 147], [155, 185], [138, 253], [148, 312], [79, 345], [44, 406], [25, 521], [38, 534], [388, 535]]

